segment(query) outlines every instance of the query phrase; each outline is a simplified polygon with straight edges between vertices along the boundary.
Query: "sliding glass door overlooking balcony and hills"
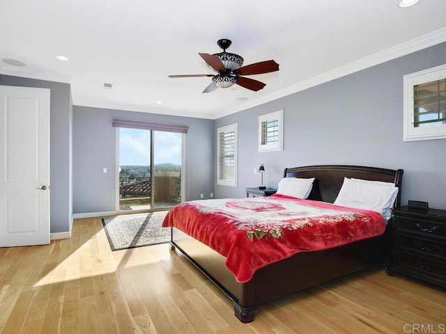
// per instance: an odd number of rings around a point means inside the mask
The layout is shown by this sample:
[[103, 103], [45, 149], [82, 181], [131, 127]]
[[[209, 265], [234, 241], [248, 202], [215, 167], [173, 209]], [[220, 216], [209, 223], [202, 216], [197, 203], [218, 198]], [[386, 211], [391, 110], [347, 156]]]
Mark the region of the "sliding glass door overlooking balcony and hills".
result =
[[151, 212], [181, 201], [183, 134], [118, 127], [119, 211]]

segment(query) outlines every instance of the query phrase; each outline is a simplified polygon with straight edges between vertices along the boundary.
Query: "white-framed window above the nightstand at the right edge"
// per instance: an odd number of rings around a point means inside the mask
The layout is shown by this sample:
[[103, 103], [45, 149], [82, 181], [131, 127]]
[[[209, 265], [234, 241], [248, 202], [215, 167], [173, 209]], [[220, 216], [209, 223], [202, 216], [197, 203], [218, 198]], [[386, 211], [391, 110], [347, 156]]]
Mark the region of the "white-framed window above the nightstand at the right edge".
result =
[[404, 141], [446, 138], [446, 65], [404, 76]]

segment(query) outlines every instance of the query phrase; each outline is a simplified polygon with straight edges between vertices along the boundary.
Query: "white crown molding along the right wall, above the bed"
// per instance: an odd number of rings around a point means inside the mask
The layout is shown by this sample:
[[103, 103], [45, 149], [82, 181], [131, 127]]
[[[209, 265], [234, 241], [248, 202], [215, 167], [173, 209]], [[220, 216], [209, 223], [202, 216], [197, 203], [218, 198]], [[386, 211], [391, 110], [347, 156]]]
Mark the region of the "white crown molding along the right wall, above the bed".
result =
[[399, 58], [401, 56], [406, 56], [415, 51], [420, 51], [422, 49], [426, 49], [427, 47], [432, 47], [433, 45], [438, 45], [443, 42], [446, 42], [446, 28], [433, 31], [432, 33], [422, 35], [419, 38], [401, 43], [400, 45], [396, 45], [394, 47], [391, 47], [390, 49], [385, 49], [384, 51], [372, 54], [371, 56], [367, 56], [358, 61], [348, 63], [347, 65], [341, 67], [337, 67], [334, 70], [325, 72], [316, 77], [312, 77], [311, 79], [301, 81], [298, 84], [289, 86], [282, 90], [278, 90], [275, 93], [265, 95], [264, 97], [261, 97], [257, 100], [252, 100], [246, 102], [245, 104], [240, 104], [239, 106], [227, 109], [226, 111], [214, 113], [213, 119], [215, 120], [217, 118], [231, 115], [232, 113], [237, 113], [238, 111], [243, 111], [254, 106], [259, 106], [261, 104], [277, 100], [281, 97], [286, 97], [293, 93], [298, 93], [302, 90], [324, 84], [325, 82], [332, 81], [340, 77], [345, 77], [348, 74], [359, 72], [360, 70], [365, 70], [366, 68], [385, 63], [386, 61], [392, 61], [393, 59]]

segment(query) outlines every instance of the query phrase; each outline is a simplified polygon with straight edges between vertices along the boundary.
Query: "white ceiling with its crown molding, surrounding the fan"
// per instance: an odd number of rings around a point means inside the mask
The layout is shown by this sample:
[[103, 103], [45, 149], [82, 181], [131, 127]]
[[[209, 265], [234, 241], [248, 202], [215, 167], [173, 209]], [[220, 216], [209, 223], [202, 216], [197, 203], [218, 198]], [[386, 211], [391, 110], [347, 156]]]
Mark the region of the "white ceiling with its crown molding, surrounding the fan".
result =
[[[398, 3], [1, 0], [0, 59], [26, 65], [0, 61], [0, 73], [69, 82], [79, 106], [214, 119], [446, 41], [446, 0]], [[167, 77], [210, 74], [198, 53], [222, 51], [220, 38], [244, 65], [274, 59], [279, 72], [249, 76], [258, 92]]]

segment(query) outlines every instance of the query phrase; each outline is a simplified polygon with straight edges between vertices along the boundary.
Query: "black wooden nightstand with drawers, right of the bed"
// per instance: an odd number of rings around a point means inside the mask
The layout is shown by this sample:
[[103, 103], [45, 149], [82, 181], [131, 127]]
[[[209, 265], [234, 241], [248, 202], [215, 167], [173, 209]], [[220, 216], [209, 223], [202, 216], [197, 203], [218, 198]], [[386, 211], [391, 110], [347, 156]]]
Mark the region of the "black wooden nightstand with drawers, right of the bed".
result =
[[397, 207], [386, 271], [446, 287], [446, 210]]

